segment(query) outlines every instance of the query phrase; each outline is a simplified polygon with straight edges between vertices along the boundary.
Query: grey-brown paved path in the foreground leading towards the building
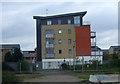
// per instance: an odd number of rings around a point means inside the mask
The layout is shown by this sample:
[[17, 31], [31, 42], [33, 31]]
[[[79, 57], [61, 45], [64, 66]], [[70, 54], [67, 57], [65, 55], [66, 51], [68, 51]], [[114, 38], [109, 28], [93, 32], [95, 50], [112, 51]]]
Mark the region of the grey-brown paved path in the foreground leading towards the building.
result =
[[59, 70], [45, 70], [40, 74], [44, 75], [40, 78], [27, 79], [24, 82], [80, 82], [81, 80], [72, 72], [65, 72]]

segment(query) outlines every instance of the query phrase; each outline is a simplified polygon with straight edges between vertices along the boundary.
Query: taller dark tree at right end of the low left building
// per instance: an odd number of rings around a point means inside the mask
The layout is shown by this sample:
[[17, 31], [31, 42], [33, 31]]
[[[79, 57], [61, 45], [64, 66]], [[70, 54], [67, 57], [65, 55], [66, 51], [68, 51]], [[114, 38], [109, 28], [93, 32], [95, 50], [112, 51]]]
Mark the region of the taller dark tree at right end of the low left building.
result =
[[20, 60], [23, 60], [23, 54], [21, 53], [19, 48], [15, 48], [13, 53], [13, 61], [18, 62]]

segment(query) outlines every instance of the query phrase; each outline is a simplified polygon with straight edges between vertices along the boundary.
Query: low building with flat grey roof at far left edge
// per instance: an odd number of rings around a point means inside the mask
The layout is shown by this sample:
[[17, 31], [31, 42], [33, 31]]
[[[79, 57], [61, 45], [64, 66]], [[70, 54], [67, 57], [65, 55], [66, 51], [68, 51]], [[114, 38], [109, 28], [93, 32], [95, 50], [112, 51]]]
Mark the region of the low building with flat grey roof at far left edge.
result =
[[7, 52], [10, 52], [11, 54], [13, 54], [15, 48], [20, 49], [20, 45], [19, 44], [0, 44], [0, 52], [1, 52], [0, 55], [2, 57], [2, 61], [4, 61], [5, 54]]

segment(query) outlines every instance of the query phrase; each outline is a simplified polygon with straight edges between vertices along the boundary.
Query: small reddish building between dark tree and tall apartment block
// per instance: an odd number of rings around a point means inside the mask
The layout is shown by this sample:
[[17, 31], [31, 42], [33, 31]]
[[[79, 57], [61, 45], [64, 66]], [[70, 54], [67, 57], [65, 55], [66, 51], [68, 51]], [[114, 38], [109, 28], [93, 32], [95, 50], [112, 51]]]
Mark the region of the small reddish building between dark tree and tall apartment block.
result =
[[35, 51], [23, 51], [23, 57], [27, 62], [34, 62], [36, 60]]

